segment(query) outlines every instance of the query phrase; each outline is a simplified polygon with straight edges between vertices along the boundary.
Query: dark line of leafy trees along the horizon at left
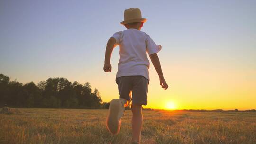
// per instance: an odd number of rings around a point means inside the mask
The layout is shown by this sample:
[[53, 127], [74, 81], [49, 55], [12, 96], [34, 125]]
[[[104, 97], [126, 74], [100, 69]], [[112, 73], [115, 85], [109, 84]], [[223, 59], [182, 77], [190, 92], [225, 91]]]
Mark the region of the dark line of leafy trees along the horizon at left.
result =
[[73, 83], [66, 78], [48, 78], [22, 84], [10, 81], [0, 73], [0, 106], [26, 108], [108, 108], [109, 103], [102, 102], [99, 90], [92, 91], [89, 82]]

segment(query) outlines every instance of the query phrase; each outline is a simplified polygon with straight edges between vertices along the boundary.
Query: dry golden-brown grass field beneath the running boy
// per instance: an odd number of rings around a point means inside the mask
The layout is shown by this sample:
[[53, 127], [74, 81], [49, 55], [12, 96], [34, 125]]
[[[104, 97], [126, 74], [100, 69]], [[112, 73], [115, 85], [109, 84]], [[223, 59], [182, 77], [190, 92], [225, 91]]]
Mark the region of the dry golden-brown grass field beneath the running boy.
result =
[[[130, 144], [131, 111], [118, 135], [107, 110], [18, 108], [0, 114], [0, 144]], [[256, 113], [143, 111], [142, 144], [256, 144]]]

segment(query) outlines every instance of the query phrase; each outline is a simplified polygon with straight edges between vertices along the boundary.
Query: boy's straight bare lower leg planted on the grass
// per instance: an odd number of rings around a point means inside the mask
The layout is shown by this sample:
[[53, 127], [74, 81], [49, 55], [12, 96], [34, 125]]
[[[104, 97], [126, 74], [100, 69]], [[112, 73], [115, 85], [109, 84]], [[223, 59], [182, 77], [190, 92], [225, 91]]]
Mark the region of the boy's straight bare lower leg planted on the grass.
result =
[[140, 134], [142, 128], [142, 107], [132, 103], [132, 141], [140, 142]]

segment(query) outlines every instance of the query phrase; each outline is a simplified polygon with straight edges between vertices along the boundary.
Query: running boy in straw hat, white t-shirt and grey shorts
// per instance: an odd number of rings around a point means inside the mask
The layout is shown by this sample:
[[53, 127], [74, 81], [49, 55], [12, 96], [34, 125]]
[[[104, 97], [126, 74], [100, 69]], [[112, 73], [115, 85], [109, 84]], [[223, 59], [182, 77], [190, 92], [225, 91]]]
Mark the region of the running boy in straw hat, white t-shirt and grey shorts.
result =
[[161, 50], [161, 46], [156, 45], [149, 35], [140, 31], [144, 22], [146, 22], [146, 19], [141, 17], [139, 8], [125, 10], [124, 21], [121, 24], [127, 30], [119, 31], [109, 39], [103, 68], [105, 72], [111, 72], [111, 53], [113, 48], [119, 45], [120, 60], [118, 63], [116, 83], [118, 84], [120, 99], [113, 99], [110, 102], [106, 126], [111, 133], [119, 133], [121, 117], [123, 117], [125, 110], [124, 107], [128, 106], [130, 101], [132, 101], [132, 141], [135, 144], [140, 142], [142, 105], [147, 105], [149, 61], [146, 52], [150, 56], [151, 62], [159, 75], [160, 85], [165, 90], [168, 88], [156, 54]]

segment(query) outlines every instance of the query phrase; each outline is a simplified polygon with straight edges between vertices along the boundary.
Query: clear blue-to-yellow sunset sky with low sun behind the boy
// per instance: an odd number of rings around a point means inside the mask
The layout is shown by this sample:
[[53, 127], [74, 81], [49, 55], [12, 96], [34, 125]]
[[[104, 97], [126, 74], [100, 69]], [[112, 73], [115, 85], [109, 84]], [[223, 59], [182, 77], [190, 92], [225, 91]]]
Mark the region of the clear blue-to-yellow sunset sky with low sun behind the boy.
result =
[[138, 7], [168, 90], [149, 69], [145, 108], [256, 109], [256, 0], [0, 0], [0, 73], [22, 83], [64, 77], [118, 98], [103, 71], [107, 40]]

